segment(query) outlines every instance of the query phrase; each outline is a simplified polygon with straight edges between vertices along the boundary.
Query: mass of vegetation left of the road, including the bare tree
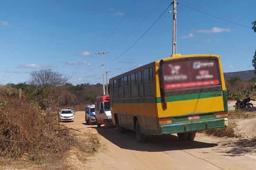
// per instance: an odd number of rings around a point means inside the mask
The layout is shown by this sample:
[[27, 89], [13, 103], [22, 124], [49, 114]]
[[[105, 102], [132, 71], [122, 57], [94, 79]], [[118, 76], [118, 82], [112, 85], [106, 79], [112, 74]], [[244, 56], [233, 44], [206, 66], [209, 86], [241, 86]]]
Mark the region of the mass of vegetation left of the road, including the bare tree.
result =
[[101, 92], [100, 85], [73, 86], [68, 79], [39, 70], [30, 73], [28, 83], [0, 86], [0, 166], [5, 159], [63, 166], [63, 155], [72, 147], [89, 153], [82, 150], [84, 145], [99, 145], [97, 136], [87, 134], [86, 143], [81, 143], [72, 129], [58, 123], [59, 108], [76, 104], [82, 108]]

